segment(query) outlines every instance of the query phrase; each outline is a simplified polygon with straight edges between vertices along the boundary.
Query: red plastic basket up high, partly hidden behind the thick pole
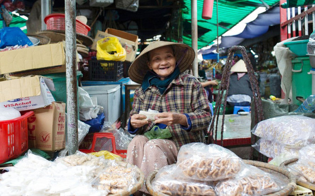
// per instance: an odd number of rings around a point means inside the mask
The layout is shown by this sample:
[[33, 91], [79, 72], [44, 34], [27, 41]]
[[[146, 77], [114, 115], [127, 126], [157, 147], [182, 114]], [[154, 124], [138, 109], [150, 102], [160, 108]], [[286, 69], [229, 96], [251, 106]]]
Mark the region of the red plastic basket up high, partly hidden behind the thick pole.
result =
[[[64, 14], [49, 14], [44, 19], [47, 30], [64, 30], [65, 29], [65, 21]], [[83, 24], [81, 21], [76, 20], [75, 23], [76, 32], [88, 35], [88, 32], [91, 30], [89, 26]]]

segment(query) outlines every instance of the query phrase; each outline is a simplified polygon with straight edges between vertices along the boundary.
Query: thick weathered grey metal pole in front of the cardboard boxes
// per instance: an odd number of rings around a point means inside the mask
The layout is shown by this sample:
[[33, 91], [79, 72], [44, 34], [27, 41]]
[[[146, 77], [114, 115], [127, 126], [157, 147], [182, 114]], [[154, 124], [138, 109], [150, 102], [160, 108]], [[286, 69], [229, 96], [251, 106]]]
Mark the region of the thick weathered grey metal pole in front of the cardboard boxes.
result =
[[76, 77], [75, 0], [64, 0], [65, 4], [65, 66], [67, 92], [67, 136], [68, 154], [78, 150], [78, 99]]

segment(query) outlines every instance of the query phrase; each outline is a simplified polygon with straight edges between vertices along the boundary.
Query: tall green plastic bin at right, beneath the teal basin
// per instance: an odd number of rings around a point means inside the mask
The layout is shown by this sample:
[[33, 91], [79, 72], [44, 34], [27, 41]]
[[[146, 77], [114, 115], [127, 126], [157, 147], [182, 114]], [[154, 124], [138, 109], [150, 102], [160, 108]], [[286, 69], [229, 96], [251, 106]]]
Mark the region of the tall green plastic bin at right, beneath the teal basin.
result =
[[301, 105], [296, 97], [306, 99], [312, 94], [312, 74], [309, 57], [298, 57], [292, 60], [292, 99], [293, 104]]

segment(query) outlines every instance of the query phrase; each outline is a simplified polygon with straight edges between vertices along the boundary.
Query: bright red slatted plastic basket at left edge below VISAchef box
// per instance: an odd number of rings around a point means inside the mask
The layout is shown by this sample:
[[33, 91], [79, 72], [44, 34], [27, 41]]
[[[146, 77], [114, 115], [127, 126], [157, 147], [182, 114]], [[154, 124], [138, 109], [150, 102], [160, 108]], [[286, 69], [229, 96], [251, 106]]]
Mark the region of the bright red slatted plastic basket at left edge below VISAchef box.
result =
[[0, 164], [28, 150], [28, 117], [33, 113], [30, 111], [18, 118], [0, 121]]

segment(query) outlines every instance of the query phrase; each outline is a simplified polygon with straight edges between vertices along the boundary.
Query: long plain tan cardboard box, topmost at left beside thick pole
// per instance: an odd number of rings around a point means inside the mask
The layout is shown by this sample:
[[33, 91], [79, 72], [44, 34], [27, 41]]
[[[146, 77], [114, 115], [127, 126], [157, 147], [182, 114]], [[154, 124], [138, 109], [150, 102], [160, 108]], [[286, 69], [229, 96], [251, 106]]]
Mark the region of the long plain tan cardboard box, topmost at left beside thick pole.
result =
[[29, 75], [65, 72], [63, 42], [0, 53], [0, 74], [25, 71]]

